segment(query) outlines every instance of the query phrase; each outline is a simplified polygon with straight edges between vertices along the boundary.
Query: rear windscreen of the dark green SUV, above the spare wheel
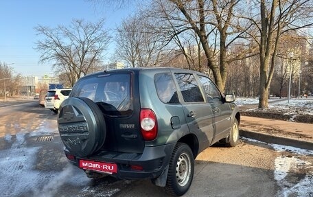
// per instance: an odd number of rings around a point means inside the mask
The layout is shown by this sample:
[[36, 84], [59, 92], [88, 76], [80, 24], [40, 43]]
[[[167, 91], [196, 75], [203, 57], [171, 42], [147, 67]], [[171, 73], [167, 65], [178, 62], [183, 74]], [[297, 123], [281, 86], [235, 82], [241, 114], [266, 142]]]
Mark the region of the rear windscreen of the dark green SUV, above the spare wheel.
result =
[[73, 97], [87, 97], [108, 115], [132, 112], [130, 73], [112, 73], [82, 78]]

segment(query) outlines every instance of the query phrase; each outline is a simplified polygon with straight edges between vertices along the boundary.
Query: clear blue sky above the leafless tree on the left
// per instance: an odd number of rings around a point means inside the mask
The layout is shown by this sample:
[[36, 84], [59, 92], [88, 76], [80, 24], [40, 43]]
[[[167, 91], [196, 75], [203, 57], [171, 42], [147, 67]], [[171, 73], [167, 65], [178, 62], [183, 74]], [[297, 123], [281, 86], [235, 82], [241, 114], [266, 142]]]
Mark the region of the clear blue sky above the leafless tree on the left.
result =
[[[9, 65], [14, 74], [22, 76], [54, 76], [51, 63], [41, 65], [40, 53], [34, 49], [34, 27], [69, 25], [73, 19], [96, 22], [105, 19], [106, 30], [114, 30], [129, 16], [135, 6], [117, 8], [86, 0], [0, 0], [0, 62]], [[114, 7], [114, 8], [113, 8]], [[111, 32], [113, 35], [113, 32]], [[109, 45], [108, 54], [114, 50]], [[108, 57], [109, 58], [109, 57]]]

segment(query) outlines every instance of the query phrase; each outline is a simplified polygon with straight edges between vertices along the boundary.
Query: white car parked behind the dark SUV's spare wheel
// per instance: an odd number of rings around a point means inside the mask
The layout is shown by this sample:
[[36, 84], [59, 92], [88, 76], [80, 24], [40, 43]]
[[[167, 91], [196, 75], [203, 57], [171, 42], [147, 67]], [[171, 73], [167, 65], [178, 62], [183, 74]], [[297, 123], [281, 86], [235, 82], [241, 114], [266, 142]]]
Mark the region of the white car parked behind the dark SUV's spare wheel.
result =
[[71, 89], [52, 89], [47, 91], [45, 96], [45, 108], [58, 113], [60, 104], [69, 97]]

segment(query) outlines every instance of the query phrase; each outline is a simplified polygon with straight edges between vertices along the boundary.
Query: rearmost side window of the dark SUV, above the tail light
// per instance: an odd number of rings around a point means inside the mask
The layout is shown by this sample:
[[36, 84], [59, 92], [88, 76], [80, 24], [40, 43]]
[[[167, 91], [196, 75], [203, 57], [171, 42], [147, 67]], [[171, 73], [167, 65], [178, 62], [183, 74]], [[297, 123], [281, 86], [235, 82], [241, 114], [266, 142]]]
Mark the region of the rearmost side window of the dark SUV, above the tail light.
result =
[[154, 76], [156, 93], [164, 103], [179, 103], [176, 86], [170, 73], [159, 73]]

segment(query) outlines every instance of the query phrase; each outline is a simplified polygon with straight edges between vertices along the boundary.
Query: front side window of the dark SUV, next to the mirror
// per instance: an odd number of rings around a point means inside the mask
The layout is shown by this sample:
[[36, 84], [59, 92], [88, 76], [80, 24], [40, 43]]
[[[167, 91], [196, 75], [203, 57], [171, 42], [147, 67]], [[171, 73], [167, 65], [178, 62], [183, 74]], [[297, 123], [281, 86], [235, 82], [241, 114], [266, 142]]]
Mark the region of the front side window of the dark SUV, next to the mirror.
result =
[[205, 89], [205, 95], [209, 102], [219, 102], [221, 100], [220, 91], [215, 84], [204, 76], [198, 76], [200, 83], [202, 84], [203, 89]]

